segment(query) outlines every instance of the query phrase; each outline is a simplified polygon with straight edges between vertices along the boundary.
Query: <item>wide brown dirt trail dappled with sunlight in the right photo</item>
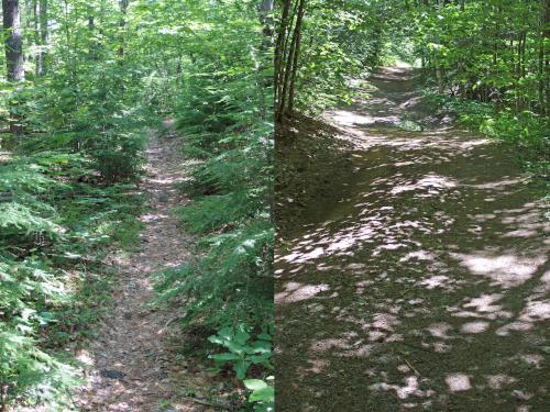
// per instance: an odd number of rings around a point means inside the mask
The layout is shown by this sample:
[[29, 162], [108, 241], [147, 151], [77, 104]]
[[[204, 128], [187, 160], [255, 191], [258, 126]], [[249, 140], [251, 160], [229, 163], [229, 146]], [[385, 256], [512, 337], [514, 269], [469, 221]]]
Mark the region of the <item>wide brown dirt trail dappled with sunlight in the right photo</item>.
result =
[[512, 151], [409, 69], [324, 118], [277, 148], [277, 411], [548, 411], [548, 204]]

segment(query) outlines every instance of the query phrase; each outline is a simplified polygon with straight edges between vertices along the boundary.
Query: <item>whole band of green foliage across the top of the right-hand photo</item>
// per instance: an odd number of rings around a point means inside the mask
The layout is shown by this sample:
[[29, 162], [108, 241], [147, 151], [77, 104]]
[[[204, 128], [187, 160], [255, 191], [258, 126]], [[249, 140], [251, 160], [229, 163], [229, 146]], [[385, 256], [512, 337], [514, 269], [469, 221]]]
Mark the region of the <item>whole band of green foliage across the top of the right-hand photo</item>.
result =
[[[527, 148], [548, 170], [550, 2], [280, 2], [276, 108], [311, 112], [350, 100], [348, 81], [397, 60], [421, 68], [444, 109]], [[548, 171], [546, 171], [548, 172]]]

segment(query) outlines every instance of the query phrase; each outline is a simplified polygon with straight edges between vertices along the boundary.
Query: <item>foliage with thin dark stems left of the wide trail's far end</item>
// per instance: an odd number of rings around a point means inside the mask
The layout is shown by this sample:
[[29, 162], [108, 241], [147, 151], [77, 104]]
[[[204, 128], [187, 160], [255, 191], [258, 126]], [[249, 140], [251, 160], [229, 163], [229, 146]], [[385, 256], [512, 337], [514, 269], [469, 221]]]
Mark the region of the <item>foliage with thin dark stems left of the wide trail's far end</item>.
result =
[[[350, 101], [349, 79], [400, 53], [406, 38], [393, 24], [396, 1], [286, 0], [278, 4], [275, 56], [276, 114], [294, 107], [318, 112]], [[399, 46], [391, 42], [391, 35]]]

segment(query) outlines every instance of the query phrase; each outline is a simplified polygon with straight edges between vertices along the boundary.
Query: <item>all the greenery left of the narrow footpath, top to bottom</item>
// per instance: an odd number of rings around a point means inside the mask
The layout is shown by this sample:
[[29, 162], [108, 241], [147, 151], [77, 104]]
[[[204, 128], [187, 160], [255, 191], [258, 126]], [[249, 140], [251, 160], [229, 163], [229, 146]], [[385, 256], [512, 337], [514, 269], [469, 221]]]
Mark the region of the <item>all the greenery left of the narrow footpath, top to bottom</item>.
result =
[[136, 238], [133, 182], [151, 116], [135, 103], [142, 86], [121, 53], [117, 2], [11, 5], [21, 9], [3, 11], [20, 22], [4, 20], [0, 99], [1, 403], [65, 410], [77, 377], [67, 350], [112, 282], [101, 250]]

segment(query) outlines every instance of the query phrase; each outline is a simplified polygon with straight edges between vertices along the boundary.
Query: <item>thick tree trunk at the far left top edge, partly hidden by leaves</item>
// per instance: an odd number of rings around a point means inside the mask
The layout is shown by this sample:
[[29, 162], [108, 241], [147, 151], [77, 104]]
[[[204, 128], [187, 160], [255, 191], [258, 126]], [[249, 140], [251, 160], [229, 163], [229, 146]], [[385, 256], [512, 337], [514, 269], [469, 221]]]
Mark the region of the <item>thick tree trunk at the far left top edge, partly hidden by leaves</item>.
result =
[[[12, 83], [18, 83], [25, 79], [23, 68], [23, 30], [21, 29], [21, 15], [19, 11], [19, 0], [2, 0], [3, 30], [6, 33], [6, 66], [7, 78]], [[11, 107], [10, 132], [15, 135], [23, 133], [20, 115], [16, 107]]]

